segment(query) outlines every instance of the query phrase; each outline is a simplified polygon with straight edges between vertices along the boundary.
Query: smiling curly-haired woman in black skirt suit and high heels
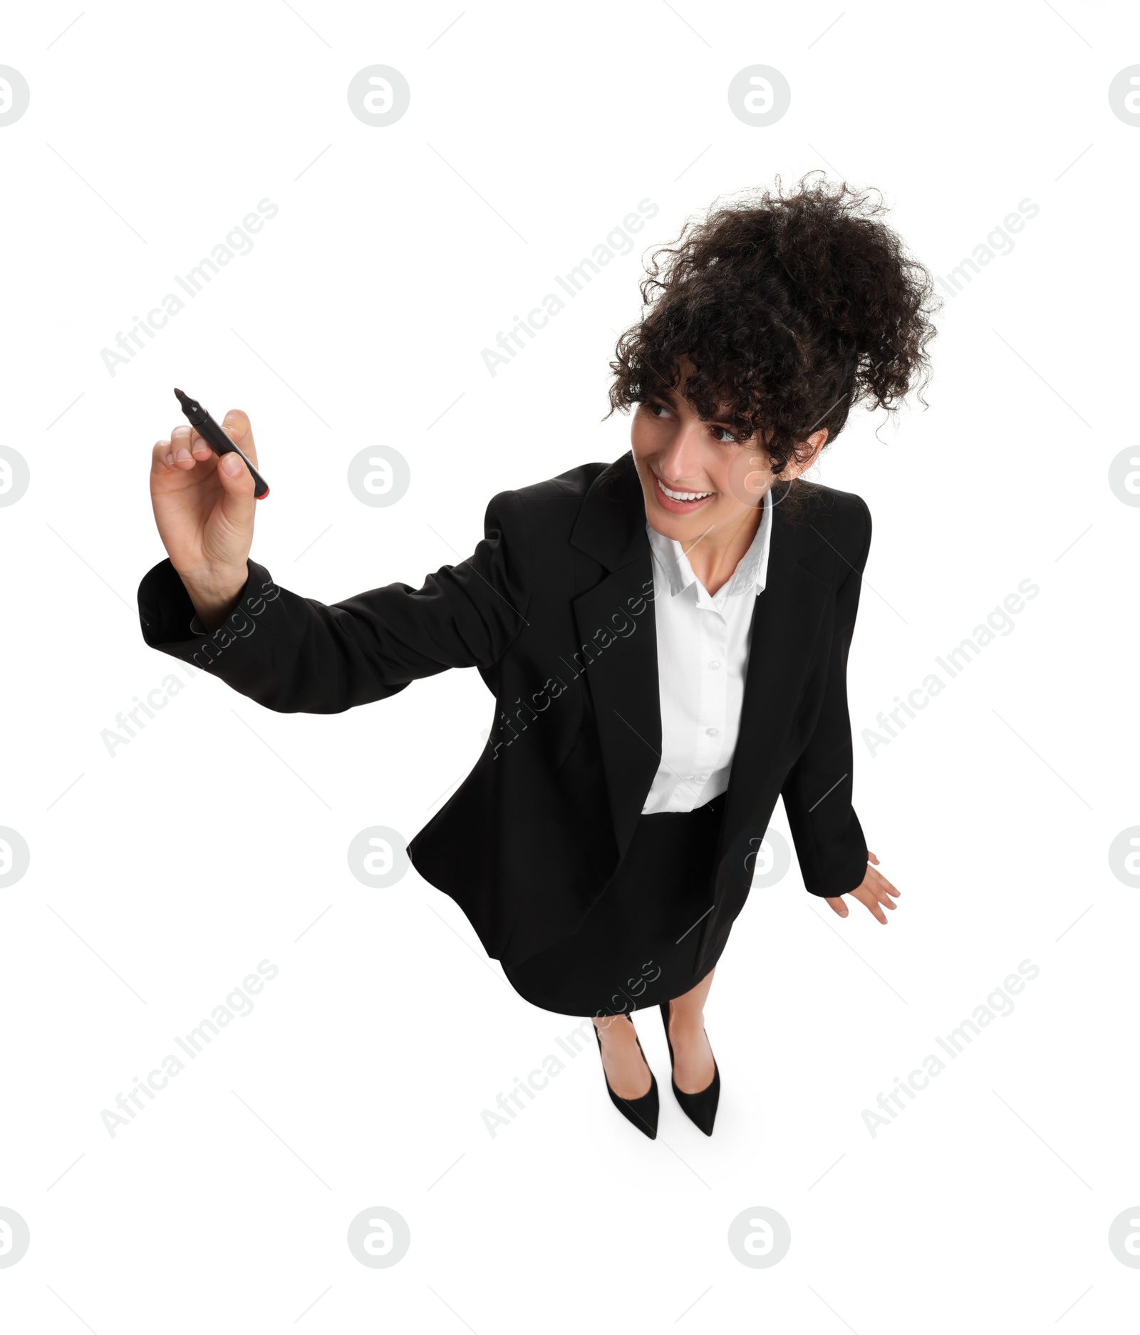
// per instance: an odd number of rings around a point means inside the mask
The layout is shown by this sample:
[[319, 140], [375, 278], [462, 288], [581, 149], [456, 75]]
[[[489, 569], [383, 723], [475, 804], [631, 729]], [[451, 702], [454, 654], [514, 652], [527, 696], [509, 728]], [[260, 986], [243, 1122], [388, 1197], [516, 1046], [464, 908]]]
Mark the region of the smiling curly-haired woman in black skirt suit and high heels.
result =
[[[881, 214], [805, 178], [687, 224], [610, 363], [631, 450], [501, 491], [474, 554], [419, 589], [280, 587], [248, 559], [238, 455], [188, 426], [154, 450], [147, 643], [283, 713], [479, 669], [487, 745], [408, 856], [523, 997], [594, 1019], [610, 1097], [650, 1137], [631, 1012], [661, 1008], [677, 1100], [711, 1133], [703, 1003], [777, 797], [810, 893], [880, 922], [898, 894], [852, 808], [870, 514], [801, 478], [853, 403], [890, 410], [928, 371], [929, 275]], [[256, 462], [246, 414], [224, 425]]]

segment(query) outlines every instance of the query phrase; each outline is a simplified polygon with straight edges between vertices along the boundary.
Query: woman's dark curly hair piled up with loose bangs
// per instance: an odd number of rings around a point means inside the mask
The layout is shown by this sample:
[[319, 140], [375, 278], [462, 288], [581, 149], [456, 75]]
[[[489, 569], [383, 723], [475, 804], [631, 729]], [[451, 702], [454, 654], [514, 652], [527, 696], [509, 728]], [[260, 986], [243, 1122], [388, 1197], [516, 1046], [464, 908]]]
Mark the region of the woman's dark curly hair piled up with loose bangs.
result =
[[606, 418], [675, 388], [687, 358], [697, 415], [740, 441], [760, 433], [778, 474], [813, 431], [834, 441], [854, 403], [894, 411], [917, 384], [925, 405], [941, 306], [930, 274], [880, 220], [878, 191], [814, 175], [786, 195], [777, 176], [654, 250], [650, 310], [618, 339]]

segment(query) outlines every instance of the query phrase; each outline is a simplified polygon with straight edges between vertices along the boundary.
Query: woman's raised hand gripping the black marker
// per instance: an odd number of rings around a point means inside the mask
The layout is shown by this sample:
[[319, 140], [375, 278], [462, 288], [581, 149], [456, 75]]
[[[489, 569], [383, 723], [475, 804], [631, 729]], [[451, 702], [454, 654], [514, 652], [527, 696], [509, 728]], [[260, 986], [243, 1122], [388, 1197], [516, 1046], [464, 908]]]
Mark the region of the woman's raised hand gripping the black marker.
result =
[[[222, 427], [256, 465], [246, 414], [231, 409]], [[254, 486], [240, 455], [219, 458], [188, 423], [174, 427], [170, 439], [154, 449], [151, 505], [159, 537], [208, 629], [230, 614], [248, 575], [258, 505]]]

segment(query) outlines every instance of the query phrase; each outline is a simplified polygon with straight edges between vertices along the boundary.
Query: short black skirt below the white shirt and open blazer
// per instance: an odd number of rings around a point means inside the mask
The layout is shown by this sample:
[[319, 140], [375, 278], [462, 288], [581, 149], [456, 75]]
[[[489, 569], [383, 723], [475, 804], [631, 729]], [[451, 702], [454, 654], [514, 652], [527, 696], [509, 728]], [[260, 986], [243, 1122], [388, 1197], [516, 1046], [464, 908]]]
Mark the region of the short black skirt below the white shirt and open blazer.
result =
[[639, 816], [626, 856], [578, 930], [503, 965], [515, 992], [543, 1011], [595, 1016], [645, 1011], [694, 988], [728, 943], [725, 932], [698, 977], [725, 797], [691, 812]]

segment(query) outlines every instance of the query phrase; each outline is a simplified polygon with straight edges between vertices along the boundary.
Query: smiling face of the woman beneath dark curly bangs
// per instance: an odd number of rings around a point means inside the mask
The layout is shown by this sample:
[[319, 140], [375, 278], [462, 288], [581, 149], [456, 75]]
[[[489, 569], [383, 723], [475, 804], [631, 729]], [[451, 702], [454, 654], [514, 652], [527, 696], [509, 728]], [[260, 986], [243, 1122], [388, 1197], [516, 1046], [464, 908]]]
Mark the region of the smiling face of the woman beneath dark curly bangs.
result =
[[[630, 433], [646, 518], [663, 537], [682, 543], [710, 529], [736, 533], [748, 519], [758, 523], [764, 495], [777, 479], [754, 435], [738, 442], [729, 427], [698, 418], [683, 387], [682, 376], [678, 390], [639, 403]], [[809, 437], [812, 458], [826, 435], [821, 430]], [[789, 462], [778, 477], [790, 481], [809, 463]], [[685, 499], [690, 495], [701, 499]]]

